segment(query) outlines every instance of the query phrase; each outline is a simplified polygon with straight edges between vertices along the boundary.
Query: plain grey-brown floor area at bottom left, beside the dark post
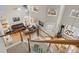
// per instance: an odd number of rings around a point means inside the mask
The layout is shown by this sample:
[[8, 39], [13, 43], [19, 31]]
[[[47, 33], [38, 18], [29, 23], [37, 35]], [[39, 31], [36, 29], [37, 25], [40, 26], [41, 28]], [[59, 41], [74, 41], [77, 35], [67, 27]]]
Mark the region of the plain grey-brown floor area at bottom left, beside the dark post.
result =
[[13, 46], [7, 49], [8, 53], [28, 53], [27, 43], [20, 43], [16, 46]]

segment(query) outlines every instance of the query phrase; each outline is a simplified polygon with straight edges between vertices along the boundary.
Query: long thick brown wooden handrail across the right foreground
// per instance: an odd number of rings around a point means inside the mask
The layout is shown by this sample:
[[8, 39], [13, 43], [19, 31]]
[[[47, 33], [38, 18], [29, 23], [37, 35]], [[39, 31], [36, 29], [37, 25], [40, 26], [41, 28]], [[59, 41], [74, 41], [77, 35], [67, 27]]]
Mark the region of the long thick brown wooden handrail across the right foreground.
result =
[[52, 44], [67, 44], [79, 46], [79, 40], [30, 40], [31, 42], [52, 43]]

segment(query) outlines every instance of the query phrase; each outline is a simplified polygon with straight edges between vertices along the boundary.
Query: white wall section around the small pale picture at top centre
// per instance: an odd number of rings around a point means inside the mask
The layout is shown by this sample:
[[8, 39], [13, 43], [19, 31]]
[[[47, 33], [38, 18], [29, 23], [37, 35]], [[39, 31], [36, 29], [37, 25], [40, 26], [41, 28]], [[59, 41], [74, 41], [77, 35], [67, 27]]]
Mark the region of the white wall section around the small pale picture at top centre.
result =
[[46, 5], [32, 5], [30, 7], [36, 7], [39, 9], [39, 13], [33, 12], [32, 9], [30, 10], [30, 16], [33, 18], [36, 18], [37, 20], [44, 20], [45, 19], [45, 13], [46, 13]]

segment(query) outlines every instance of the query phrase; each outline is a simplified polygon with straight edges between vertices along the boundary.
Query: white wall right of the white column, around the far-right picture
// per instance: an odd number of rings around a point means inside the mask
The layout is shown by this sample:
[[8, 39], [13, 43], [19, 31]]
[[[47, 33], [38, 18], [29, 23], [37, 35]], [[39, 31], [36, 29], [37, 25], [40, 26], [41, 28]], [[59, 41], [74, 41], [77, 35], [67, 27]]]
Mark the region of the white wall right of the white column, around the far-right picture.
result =
[[[69, 24], [79, 28], [79, 18], [74, 21], [74, 18], [70, 16], [72, 9], [78, 9], [79, 5], [67, 5], [62, 18], [62, 24]], [[74, 23], [74, 24], [73, 24]]]

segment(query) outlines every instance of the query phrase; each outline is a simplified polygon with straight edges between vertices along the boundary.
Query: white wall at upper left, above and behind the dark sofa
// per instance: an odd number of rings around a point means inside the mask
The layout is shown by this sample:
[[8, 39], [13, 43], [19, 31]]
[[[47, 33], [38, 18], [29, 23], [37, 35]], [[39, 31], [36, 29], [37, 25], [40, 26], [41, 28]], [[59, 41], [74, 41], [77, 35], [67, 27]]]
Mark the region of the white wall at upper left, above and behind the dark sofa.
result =
[[[21, 10], [17, 10], [21, 8]], [[24, 16], [27, 16], [26, 9], [22, 5], [2, 5], [0, 6], [0, 16], [3, 16], [10, 25], [24, 22]], [[13, 22], [13, 17], [20, 17], [21, 21]]]

